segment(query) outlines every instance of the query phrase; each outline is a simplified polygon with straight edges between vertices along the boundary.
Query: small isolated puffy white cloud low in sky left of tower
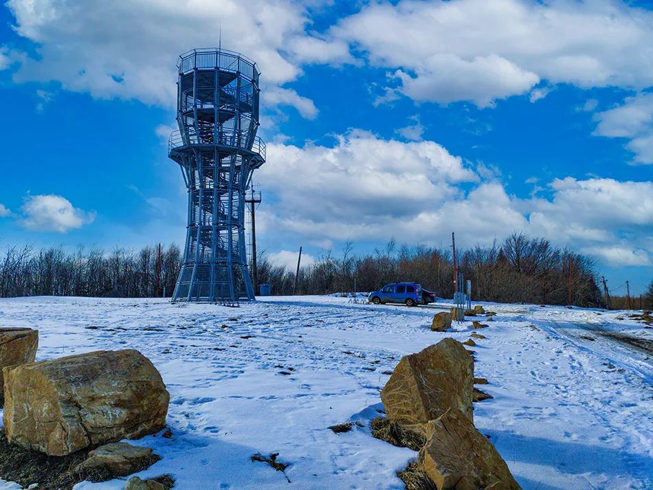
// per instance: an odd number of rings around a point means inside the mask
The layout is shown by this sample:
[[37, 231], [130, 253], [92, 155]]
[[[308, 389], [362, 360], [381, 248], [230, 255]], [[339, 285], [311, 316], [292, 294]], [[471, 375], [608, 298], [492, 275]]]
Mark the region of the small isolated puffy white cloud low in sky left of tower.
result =
[[54, 194], [27, 196], [21, 212], [19, 224], [36, 232], [65, 233], [95, 219], [95, 212], [74, 208], [68, 199]]

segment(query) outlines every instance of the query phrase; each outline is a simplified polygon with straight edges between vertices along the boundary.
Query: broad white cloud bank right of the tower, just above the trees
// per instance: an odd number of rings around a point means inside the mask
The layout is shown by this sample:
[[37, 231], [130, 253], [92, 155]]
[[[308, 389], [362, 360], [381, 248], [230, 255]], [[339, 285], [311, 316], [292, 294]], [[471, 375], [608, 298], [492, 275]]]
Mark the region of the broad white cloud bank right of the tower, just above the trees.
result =
[[637, 260], [653, 252], [647, 241], [652, 182], [568, 177], [538, 186], [548, 199], [537, 193], [518, 199], [500, 177], [477, 172], [434, 142], [386, 141], [362, 131], [337, 137], [331, 147], [272, 144], [268, 162], [256, 171], [257, 183], [272, 196], [257, 215], [261, 233], [296, 236], [300, 243], [378, 243], [394, 236], [441, 245], [455, 231], [462, 246], [473, 246], [522, 231], [592, 249], [610, 265], [635, 260], [605, 252], [615, 247], [630, 246]]

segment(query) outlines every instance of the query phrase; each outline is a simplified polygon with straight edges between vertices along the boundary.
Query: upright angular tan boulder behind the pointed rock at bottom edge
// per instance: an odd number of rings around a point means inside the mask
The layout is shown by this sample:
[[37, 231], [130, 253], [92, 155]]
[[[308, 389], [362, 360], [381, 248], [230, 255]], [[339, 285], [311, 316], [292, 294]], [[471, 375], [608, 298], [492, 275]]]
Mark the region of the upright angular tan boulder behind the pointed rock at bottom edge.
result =
[[451, 407], [472, 421], [474, 360], [463, 344], [441, 340], [417, 354], [402, 357], [381, 390], [388, 419], [418, 425], [437, 419]]

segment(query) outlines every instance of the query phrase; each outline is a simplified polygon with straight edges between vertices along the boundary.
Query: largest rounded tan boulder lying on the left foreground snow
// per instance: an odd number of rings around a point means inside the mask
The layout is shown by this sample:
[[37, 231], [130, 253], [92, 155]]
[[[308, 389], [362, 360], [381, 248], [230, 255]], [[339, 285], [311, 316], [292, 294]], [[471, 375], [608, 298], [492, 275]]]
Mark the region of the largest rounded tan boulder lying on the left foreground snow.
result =
[[170, 394], [137, 350], [72, 355], [7, 368], [4, 375], [7, 438], [49, 456], [166, 427]]

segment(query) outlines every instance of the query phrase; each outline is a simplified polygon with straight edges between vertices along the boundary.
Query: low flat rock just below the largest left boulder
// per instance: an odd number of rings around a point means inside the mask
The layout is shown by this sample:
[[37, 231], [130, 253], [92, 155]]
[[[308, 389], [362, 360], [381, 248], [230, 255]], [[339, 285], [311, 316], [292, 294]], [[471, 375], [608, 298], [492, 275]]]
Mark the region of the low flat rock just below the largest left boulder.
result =
[[115, 476], [128, 476], [143, 471], [157, 462], [150, 447], [129, 443], [111, 443], [98, 447], [77, 467], [78, 473], [107, 470]]

